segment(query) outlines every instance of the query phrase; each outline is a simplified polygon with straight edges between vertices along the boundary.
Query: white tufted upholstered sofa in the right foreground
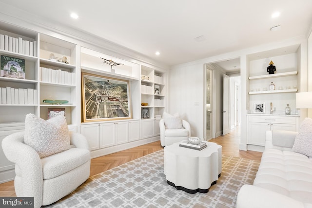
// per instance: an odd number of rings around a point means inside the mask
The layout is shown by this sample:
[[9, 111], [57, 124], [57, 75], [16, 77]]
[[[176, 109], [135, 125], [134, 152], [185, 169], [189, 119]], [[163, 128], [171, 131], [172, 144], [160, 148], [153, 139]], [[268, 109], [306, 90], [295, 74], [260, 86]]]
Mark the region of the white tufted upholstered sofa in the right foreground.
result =
[[[304, 133], [266, 132], [254, 185], [242, 186], [237, 208], [312, 208], [312, 159], [305, 151], [298, 153], [300, 148], [312, 150], [311, 129]], [[299, 136], [304, 143], [297, 142]]]

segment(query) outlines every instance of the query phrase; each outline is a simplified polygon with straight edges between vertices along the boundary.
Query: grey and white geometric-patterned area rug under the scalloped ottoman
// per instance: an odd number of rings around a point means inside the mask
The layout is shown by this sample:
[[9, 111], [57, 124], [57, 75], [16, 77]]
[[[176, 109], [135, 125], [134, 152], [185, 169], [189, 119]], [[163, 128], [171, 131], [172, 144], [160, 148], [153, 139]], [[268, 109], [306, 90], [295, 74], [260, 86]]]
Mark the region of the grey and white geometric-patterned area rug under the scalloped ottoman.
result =
[[259, 161], [222, 156], [222, 173], [208, 193], [190, 194], [167, 184], [164, 151], [90, 177], [51, 208], [234, 208], [244, 184], [252, 184]]

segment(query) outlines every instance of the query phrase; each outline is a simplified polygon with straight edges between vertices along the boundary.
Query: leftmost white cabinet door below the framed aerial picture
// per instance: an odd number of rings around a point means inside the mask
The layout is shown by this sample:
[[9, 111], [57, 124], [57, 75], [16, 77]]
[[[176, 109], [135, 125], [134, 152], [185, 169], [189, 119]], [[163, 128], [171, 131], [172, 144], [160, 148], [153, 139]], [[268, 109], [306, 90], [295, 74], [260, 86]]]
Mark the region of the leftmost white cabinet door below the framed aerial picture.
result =
[[81, 125], [81, 134], [87, 138], [91, 151], [99, 149], [99, 124]]

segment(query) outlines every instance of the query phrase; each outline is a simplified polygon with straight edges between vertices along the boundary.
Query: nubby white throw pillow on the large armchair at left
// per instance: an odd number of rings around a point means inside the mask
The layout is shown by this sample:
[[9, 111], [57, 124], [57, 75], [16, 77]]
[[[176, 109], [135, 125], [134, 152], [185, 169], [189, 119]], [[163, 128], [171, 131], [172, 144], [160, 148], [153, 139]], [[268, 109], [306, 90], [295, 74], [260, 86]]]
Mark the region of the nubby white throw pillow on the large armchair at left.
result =
[[34, 148], [40, 158], [70, 149], [69, 130], [65, 117], [57, 116], [45, 121], [34, 114], [27, 114], [24, 143]]

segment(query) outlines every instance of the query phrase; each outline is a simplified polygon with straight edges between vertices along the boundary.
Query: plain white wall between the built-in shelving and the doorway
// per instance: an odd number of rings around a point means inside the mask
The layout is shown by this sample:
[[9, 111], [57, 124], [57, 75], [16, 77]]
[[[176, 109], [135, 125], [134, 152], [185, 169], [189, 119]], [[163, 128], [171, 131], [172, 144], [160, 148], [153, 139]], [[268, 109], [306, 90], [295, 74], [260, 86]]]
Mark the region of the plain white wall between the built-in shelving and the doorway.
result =
[[179, 113], [191, 125], [191, 135], [203, 138], [204, 66], [194, 64], [170, 70], [169, 113]]

